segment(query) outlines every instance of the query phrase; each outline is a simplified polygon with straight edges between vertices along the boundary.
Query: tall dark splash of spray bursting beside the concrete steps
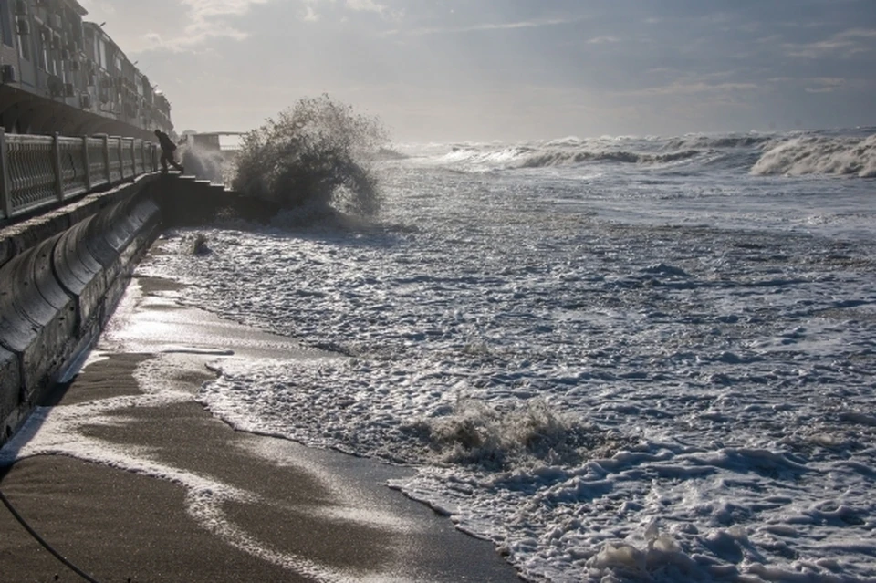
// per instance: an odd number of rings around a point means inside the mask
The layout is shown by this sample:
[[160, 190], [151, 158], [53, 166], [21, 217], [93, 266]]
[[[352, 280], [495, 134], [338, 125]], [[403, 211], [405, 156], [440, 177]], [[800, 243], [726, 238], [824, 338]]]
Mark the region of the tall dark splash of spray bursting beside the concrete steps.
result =
[[380, 196], [369, 154], [387, 141], [374, 117], [328, 95], [301, 99], [245, 134], [232, 187], [287, 207], [372, 214]]

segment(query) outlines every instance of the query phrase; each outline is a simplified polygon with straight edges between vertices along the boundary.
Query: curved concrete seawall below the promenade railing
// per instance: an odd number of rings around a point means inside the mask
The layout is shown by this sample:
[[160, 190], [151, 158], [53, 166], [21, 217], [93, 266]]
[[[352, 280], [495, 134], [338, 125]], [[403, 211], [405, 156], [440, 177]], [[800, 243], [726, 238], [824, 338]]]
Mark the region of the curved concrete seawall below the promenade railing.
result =
[[0, 232], [0, 443], [98, 338], [158, 233], [161, 184], [146, 176]]

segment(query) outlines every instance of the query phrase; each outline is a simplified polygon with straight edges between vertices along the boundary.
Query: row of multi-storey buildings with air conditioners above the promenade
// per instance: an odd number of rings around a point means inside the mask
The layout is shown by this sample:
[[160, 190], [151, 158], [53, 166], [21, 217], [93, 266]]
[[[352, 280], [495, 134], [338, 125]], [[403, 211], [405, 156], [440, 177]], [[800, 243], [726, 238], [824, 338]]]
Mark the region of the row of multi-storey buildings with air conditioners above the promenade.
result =
[[77, 0], [0, 0], [6, 133], [172, 133], [171, 104]]

